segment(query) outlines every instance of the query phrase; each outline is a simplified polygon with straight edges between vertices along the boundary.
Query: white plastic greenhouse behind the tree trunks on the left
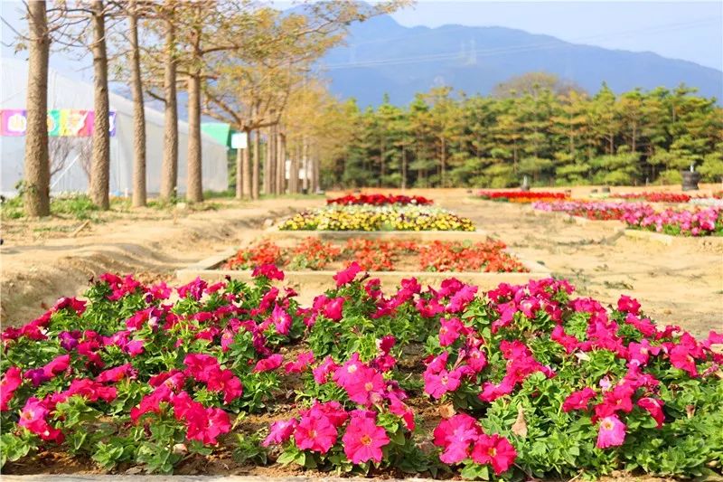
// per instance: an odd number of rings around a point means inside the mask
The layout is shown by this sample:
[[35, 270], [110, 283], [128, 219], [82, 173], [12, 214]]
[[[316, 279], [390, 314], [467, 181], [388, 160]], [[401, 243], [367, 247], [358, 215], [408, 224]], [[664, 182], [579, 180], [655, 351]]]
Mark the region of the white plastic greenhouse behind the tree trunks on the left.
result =
[[[25, 109], [27, 62], [0, 59], [0, 74], [0, 109]], [[51, 69], [48, 109], [92, 110], [92, 85], [64, 77]], [[129, 99], [111, 92], [110, 110], [116, 112], [115, 136], [110, 140], [110, 193], [127, 195], [133, 189], [133, 104]], [[179, 121], [178, 130], [178, 190], [183, 193], [186, 187], [188, 124]], [[88, 150], [90, 137], [51, 138], [51, 156], [55, 156], [52, 164], [57, 170], [52, 176], [52, 192], [86, 191], [88, 176], [83, 168], [83, 159], [88, 156], [82, 153]], [[146, 108], [146, 185], [149, 194], [158, 193], [160, 189], [163, 142], [164, 113]], [[24, 136], [0, 136], [0, 191], [4, 195], [13, 195], [14, 185], [23, 178], [24, 143]], [[221, 191], [227, 188], [227, 150], [227, 146], [216, 139], [202, 135], [203, 189]]]

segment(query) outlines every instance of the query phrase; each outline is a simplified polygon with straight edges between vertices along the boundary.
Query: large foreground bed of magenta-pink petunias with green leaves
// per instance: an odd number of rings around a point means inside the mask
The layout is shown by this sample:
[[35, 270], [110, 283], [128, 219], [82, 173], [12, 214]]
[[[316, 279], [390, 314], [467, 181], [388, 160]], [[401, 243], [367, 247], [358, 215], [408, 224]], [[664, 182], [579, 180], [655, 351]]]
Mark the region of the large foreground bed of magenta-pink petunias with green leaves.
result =
[[104, 275], [88, 302], [6, 329], [4, 472], [36, 450], [149, 472], [204, 458], [484, 479], [720, 472], [723, 336], [659, 329], [634, 299], [606, 308], [555, 279], [486, 296], [408, 279], [385, 297], [347, 269], [299, 307], [270, 286], [275, 267], [256, 276], [173, 289]]

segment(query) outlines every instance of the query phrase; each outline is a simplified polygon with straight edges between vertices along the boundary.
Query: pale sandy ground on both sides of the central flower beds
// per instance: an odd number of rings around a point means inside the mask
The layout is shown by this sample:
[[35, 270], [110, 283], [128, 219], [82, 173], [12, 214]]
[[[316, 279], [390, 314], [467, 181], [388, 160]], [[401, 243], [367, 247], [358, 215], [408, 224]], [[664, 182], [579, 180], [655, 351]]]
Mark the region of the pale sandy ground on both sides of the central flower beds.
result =
[[[703, 187], [703, 193], [709, 193], [719, 186]], [[573, 195], [582, 197], [590, 190], [574, 188]], [[641, 190], [652, 188], [614, 188], [614, 192]], [[337, 194], [343, 193], [329, 193]], [[473, 200], [465, 189], [406, 194], [426, 195], [472, 218], [478, 228], [502, 239], [514, 252], [570, 279], [582, 296], [615, 303], [620, 294], [629, 294], [660, 322], [681, 324], [696, 335], [723, 329], [723, 250], [705, 240], [671, 247], [631, 240], [615, 235], [609, 222], [579, 225], [556, 215], [532, 213], [529, 206]], [[173, 280], [175, 269], [254, 241], [268, 219], [322, 203], [319, 199], [222, 201], [215, 203], [216, 209], [203, 212], [110, 213], [74, 238], [70, 233], [80, 225], [75, 220], [4, 222], [0, 318], [5, 326], [25, 323], [56, 298], [80, 294], [89, 279], [107, 270], [136, 273], [144, 280]], [[308, 296], [328, 285], [305, 288]]]

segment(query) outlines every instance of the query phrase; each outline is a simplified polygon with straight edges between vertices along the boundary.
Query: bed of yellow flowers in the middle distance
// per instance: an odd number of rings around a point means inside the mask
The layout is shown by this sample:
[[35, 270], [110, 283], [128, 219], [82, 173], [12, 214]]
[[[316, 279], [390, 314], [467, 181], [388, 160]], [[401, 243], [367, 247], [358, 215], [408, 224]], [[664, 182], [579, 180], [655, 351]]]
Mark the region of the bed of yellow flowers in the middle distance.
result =
[[474, 224], [445, 209], [408, 204], [329, 205], [282, 221], [281, 231], [474, 231]]

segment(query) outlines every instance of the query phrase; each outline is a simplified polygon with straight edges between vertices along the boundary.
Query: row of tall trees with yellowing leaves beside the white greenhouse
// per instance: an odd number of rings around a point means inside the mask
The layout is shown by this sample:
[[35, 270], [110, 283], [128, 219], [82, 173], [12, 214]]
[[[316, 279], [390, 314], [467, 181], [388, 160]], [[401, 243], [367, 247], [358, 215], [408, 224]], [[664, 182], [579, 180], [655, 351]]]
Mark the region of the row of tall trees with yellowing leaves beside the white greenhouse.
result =
[[[188, 99], [186, 198], [192, 202], [203, 198], [202, 115], [228, 122], [255, 139], [253, 148], [245, 149], [239, 158], [237, 194], [257, 198], [262, 179], [267, 193], [286, 189], [281, 159], [286, 159], [287, 138], [293, 139], [293, 152], [303, 151], [298, 164], [309, 163], [308, 133], [299, 138], [286, 126], [296, 122], [290, 118], [291, 112], [304, 110], [292, 102], [305, 100], [305, 90], [314, 83], [309, 73], [314, 62], [343, 40], [349, 24], [399, 5], [397, 1], [373, 6], [322, 2], [282, 13], [250, 0], [27, 2], [28, 29], [18, 32], [19, 46], [29, 51], [23, 179], [26, 212], [33, 216], [50, 213], [51, 162], [45, 117], [53, 48], [92, 56], [95, 123], [89, 194], [99, 208], [109, 207], [109, 80], [127, 82], [134, 102], [134, 206], [146, 204], [144, 105], [148, 97], [163, 101], [165, 111], [160, 196], [171, 200], [176, 195], [178, 152], [184, 147], [178, 144], [179, 91]], [[262, 130], [268, 139], [268, 155], [260, 166]], [[318, 173], [318, 169], [310, 166], [307, 172]]]

